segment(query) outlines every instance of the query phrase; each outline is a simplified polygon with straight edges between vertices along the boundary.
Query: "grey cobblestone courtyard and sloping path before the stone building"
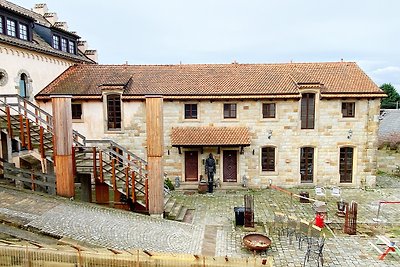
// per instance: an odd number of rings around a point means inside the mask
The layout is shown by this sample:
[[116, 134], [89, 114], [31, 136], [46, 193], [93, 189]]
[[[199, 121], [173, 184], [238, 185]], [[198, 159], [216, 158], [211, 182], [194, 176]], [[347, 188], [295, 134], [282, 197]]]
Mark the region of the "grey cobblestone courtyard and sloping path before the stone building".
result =
[[[312, 188], [296, 188], [291, 191], [308, 191], [310, 197], [315, 197]], [[267, 255], [273, 257], [274, 265], [301, 266], [305, 249], [299, 249], [296, 242], [290, 244], [286, 237], [279, 240], [275, 233], [268, 233], [267, 229], [275, 211], [307, 221], [314, 218], [314, 211], [311, 204], [300, 203], [298, 198], [291, 199], [289, 195], [274, 189], [217, 188], [215, 193], [204, 195], [174, 191], [172, 197], [177, 202], [193, 209], [189, 223], [179, 223], [0, 187], [0, 219], [93, 246], [254, 257], [242, 245], [242, 238], [248, 231], [235, 225], [234, 207], [243, 206], [245, 194], [254, 196], [256, 231], [266, 233], [272, 239], [273, 246]], [[373, 220], [377, 215], [379, 201], [400, 200], [399, 179], [381, 176], [376, 188], [344, 189], [342, 198], [359, 204], [358, 233], [355, 236], [343, 234], [341, 228], [344, 219], [335, 215], [338, 199], [327, 193], [326, 199], [322, 200], [328, 203], [328, 218], [332, 221], [329, 225], [334, 235], [326, 231], [328, 238], [324, 247], [324, 266], [399, 266], [398, 255], [388, 255], [384, 261], [380, 261], [378, 253], [369, 245], [370, 241], [375, 242], [376, 234], [393, 236], [394, 240], [400, 241], [400, 205], [383, 205], [379, 215], [381, 222]], [[316, 262], [310, 263], [309, 266], [314, 266]]]

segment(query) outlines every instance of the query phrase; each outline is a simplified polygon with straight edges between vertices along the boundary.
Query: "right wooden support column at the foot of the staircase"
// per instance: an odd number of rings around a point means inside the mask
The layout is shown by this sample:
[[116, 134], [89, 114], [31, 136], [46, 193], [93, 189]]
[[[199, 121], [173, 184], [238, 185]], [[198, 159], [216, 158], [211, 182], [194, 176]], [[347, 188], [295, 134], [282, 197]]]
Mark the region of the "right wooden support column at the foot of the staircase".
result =
[[161, 216], [164, 212], [163, 121], [162, 96], [146, 96], [149, 213]]

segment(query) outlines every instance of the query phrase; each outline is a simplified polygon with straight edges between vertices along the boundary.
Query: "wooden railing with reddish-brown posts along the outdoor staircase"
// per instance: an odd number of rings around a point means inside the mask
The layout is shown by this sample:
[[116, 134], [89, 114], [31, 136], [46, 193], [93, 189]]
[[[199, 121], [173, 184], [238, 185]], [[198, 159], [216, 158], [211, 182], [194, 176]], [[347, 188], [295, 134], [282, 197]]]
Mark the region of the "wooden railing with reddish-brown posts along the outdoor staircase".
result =
[[[18, 139], [21, 146], [28, 150], [38, 147], [42, 158], [52, 160], [54, 128], [53, 117], [49, 113], [18, 95], [0, 95], [0, 119], [7, 122], [11, 139]], [[112, 140], [88, 140], [77, 131], [72, 131], [74, 172], [79, 160], [76, 153], [90, 147], [95, 151], [90, 157], [94, 177], [102, 182], [110, 178], [109, 185], [134, 202], [137, 196], [143, 195], [147, 206], [147, 162]], [[85, 155], [80, 160], [87, 158]]]

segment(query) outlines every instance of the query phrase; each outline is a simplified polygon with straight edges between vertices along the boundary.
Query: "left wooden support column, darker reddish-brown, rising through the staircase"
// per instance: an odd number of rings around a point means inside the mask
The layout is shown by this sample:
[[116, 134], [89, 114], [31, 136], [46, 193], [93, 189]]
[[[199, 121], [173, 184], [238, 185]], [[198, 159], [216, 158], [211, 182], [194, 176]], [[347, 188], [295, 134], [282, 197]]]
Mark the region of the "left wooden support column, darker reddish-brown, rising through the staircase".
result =
[[71, 96], [53, 95], [53, 127], [57, 195], [73, 197], [75, 184], [72, 165]]

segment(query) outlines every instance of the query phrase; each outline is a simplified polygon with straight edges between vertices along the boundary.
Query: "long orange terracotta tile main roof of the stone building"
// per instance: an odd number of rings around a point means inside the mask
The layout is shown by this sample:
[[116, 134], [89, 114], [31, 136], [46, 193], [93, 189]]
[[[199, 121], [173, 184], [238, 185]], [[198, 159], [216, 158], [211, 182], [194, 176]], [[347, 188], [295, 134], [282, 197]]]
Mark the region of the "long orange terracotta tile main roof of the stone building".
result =
[[[129, 80], [131, 79], [131, 82]], [[129, 83], [128, 83], [129, 82]], [[299, 96], [316, 87], [321, 94], [379, 95], [382, 91], [354, 62], [288, 64], [76, 65], [39, 93], [100, 95], [104, 84], [125, 84], [123, 95], [160, 94], [166, 99]], [[40, 97], [38, 98], [40, 99]]]

